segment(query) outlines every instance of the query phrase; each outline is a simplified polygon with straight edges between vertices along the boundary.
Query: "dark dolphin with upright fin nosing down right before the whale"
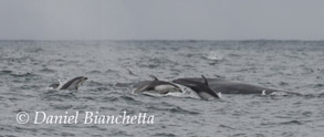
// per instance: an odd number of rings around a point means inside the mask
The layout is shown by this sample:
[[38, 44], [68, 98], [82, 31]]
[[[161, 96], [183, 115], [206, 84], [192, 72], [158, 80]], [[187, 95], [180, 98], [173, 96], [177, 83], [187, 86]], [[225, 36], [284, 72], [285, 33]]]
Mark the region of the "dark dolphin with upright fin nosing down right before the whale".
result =
[[202, 82], [192, 81], [190, 78], [175, 80], [173, 82], [191, 88], [202, 99], [220, 98], [220, 93], [218, 94], [210, 88], [208, 80], [203, 75], [201, 75], [201, 77], [200, 80], [202, 80]]

